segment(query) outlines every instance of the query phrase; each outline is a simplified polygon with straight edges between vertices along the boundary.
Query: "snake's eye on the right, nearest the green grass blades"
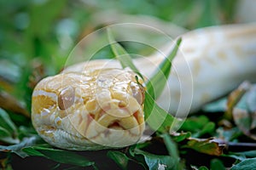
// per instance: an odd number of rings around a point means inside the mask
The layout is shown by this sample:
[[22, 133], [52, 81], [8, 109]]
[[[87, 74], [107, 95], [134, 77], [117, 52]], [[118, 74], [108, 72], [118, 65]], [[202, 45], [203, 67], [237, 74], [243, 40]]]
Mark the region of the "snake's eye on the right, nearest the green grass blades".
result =
[[140, 105], [143, 105], [144, 99], [145, 99], [144, 88], [140, 84], [137, 84], [136, 82], [131, 82], [130, 87], [131, 87], [131, 92], [133, 97], [137, 99], [137, 102]]

